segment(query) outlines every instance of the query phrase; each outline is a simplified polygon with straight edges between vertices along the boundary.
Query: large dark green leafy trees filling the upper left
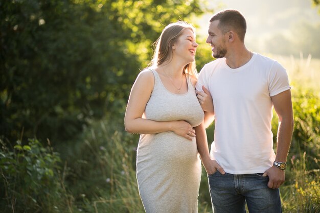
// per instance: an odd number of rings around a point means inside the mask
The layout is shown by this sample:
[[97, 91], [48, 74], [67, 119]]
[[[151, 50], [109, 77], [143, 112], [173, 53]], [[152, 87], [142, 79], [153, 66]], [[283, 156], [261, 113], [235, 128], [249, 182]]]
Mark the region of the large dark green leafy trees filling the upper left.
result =
[[130, 87], [168, 23], [195, 1], [2, 1], [0, 135], [73, 138], [90, 119], [123, 113]]

